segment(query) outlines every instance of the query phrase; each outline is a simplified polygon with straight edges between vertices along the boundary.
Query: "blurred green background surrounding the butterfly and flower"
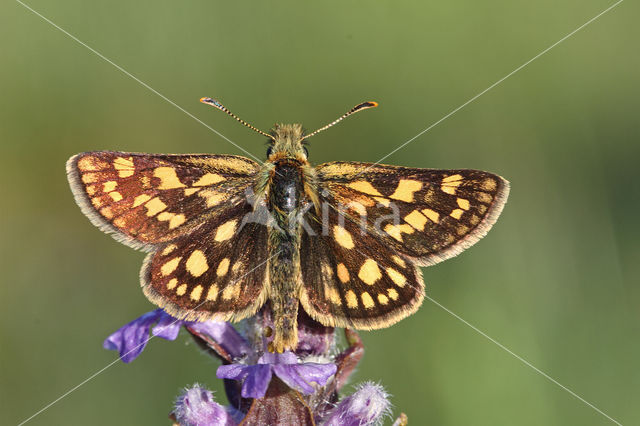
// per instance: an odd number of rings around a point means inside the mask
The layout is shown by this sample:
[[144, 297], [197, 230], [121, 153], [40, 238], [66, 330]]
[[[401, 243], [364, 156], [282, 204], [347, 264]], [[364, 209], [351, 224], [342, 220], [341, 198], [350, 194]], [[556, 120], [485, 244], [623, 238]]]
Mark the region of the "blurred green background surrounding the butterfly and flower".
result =
[[[317, 164], [378, 160], [613, 2], [28, 4], [260, 158], [262, 137], [198, 99], [265, 130], [380, 102], [312, 139]], [[385, 160], [511, 181], [487, 238], [424, 271], [428, 294], [622, 424], [640, 423], [639, 12], [622, 3]], [[17, 424], [153, 308], [143, 254], [81, 214], [67, 158], [242, 152], [17, 2], [0, 36], [0, 404]], [[612, 424], [433, 302], [362, 335], [353, 382], [384, 384], [411, 424]], [[216, 367], [186, 336], [154, 339], [29, 424], [168, 424], [182, 386], [221, 391]]]

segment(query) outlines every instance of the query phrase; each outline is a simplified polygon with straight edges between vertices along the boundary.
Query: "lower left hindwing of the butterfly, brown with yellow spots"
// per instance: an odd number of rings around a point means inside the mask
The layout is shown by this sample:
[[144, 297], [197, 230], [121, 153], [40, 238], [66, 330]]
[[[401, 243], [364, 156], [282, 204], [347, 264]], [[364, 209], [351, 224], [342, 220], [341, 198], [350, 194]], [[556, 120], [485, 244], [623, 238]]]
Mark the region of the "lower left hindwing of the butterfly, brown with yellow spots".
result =
[[172, 316], [238, 321], [265, 302], [267, 227], [245, 222], [249, 203], [229, 208], [147, 256], [146, 296]]

